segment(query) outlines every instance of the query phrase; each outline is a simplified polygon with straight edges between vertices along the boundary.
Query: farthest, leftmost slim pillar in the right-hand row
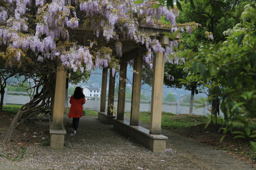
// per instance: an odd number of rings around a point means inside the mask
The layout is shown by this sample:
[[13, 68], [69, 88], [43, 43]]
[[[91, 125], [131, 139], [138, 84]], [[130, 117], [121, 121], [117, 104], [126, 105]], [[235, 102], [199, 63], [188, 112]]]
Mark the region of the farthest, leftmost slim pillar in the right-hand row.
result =
[[107, 79], [108, 79], [108, 69], [102, 68], [101, 107], [100, 107], [101, 112], [105, 112], [105, 110], [106, 110]]

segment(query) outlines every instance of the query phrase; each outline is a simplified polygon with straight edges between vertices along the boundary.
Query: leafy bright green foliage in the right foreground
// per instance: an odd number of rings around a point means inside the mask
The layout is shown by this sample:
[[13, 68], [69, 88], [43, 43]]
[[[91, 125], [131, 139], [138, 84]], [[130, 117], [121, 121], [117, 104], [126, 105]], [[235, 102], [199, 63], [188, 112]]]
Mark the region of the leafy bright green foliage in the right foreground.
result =
[[[256, 5], [245, 6], [241, 15], [242, 23], [229, 29], [227, 40], [218, 44], [204, 45], [198, 55], [188, 62], [194, 72], [200, 75], [191, 79], [204, 80], [204, 87], [210, 91], [209, 100], [222, 96], [220, 109], [223, 119], [212, 117], [214, 122], [222, 122], [223, 130], [231, 130], [233, 123], [239, 121], [244, 131], [234, 132], [237, 137], [249, 140], [256, 151], [254, 137], [256, 131], [249, 127], [248, 121], [256, 117]], [[214, 78], [212, 78], [214, 77]], [[212, 90], [214, 89], [214, 90]], [[220, 121], [221, 120], [221, 121]]]

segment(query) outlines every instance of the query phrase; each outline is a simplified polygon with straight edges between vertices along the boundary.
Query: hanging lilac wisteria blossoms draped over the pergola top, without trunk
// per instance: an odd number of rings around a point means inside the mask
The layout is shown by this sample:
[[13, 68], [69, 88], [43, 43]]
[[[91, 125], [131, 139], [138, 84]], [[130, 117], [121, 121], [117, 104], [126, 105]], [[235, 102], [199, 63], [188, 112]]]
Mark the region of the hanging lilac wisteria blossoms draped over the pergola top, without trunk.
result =
[[[79, 22], [90, 25], [99, 37], [106, 41], [116, 41], [116, 53], [122, 56], [122, 44], [117, 31], [124, 33], [124, 38], [145, 44], [147, 53], [145, 64], [152, 68], [153, 53], [165, 52], [166, 62], [178, 64], [178, 59], [169, 60], [177, 41], [170, 41], [165, 49], [160, 42], [139, 31], [138, 27], [165, 28], [176, 31], [175, 18], [178, 11], [165, 6], [152, 8], [153, 0], [144, 0], [134, 4], [135, 0], [2, 0], [0, 6], [0, 45], [9, 46], [17, 51], [32, 50], [37, 54], [37, 61], [59, 58], [62, 64], [73, 71], [90, 71], [93, 67], [112, 67], [114, 58], [110, 50], [97, 47], [93, 42], [89, 46], [80, 46], [71, 39], [70, 30], [79, 26]], [[79, 13], [79, 15], [78, 15]], [[31, 16], [35, 15], [34, 19]], [[165, 16], [171, 25], [160, 23]], [[33, 17], [32, 17], [33, 18]], [[34, 26], [34, 28], [33, 28]], [[62, 42], [62, 43], [60, 43]], [[65, 43], [72, 42], [72, 43]], [[68, 45], [64, 45], [68, 44]], [[97, 51], [95, 49], [97, 48]], [[101, 51], [102, 50], [102, 51]], [[106, 52], [107, 51], [107, 52]], [[20, 54], [13, 58], [20, 59]]]

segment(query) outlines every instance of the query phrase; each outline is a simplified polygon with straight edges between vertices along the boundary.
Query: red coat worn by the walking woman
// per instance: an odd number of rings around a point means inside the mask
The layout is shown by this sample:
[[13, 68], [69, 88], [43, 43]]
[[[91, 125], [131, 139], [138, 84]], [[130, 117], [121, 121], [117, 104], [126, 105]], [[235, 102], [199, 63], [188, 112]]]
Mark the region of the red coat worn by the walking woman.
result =
[[69, 103], [71, 104], [68, 117], [69, 118], [81, 118], [82, 105], [85, 103], [85, 98], [75, 99], [73, 95], [70, 97]]

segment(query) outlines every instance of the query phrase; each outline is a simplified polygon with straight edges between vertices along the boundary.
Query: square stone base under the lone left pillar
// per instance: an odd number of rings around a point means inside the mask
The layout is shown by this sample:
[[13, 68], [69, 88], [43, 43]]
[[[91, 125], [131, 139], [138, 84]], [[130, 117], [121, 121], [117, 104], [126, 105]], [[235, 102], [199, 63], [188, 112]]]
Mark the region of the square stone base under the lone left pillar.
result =
[[66, 134], [65, 127], [62, 129], [53, 129], [53, 122], [50, 122], [50, 147], [64, 148], [64, 137]]

